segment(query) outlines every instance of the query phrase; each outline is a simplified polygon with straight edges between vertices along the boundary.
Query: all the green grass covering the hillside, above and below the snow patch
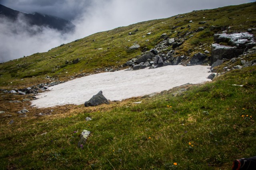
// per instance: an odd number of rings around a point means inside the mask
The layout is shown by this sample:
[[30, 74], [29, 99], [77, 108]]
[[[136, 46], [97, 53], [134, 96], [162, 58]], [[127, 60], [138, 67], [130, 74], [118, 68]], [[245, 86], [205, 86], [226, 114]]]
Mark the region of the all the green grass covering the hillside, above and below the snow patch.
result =
[[[50, 80], [66, 81], [122, 69], [145, 48], [158, 45], [163, 33], [184, 38], [198, 29], [199, 21], [207, 21], [206, 28], [184, 39], [174, 55], [192, 57], [205, 50], [211, 53], [213, 35], [222, 27], [228, 33], [255, 28], [255, 9], [254, 2], [193, 11], [96, 33], [46, 53], [0, 64], [0, 88], [27, 88]], [[210, 30], [211, 25], [217, 29]], [[140, 48], [129, 50], [136, 42]], [[80, 61], [73, 64], [78, 58]], [[248, 53], [243, 59], [255, 60], [256, 54]], [[227, 63], [214, 70], [223, 72], [223, 67], [239, 65], [241, 60]], [[1, 170], [226, 170], [235, 159], [256, 156], [256, 65], [230, 69], [205, 84], [186, 84], [152, 97], [95, 107], [36, 108], [30, 107], [34, 94], [2, 90], [0, 96]], [[142, 102], [134, 103], [138, 101]], [[24, 108], [29, 112], [17, 113]], [[86, 117], [92, 120], [86, 121]], [[84, 145], [78, 146], [84, 129], [91, 134]]]

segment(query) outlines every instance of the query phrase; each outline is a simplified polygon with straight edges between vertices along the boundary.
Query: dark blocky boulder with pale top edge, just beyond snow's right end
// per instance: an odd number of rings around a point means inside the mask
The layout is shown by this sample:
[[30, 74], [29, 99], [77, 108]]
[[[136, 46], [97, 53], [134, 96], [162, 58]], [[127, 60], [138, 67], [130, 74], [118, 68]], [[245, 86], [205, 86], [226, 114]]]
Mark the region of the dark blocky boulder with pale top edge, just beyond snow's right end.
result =
[[215, 43], [212, 44], [211, 63], [213, 64], [218, 59], [232, 59], [241, 54], [242, 51], [237, 50], [237, 47], [228, 47]]

